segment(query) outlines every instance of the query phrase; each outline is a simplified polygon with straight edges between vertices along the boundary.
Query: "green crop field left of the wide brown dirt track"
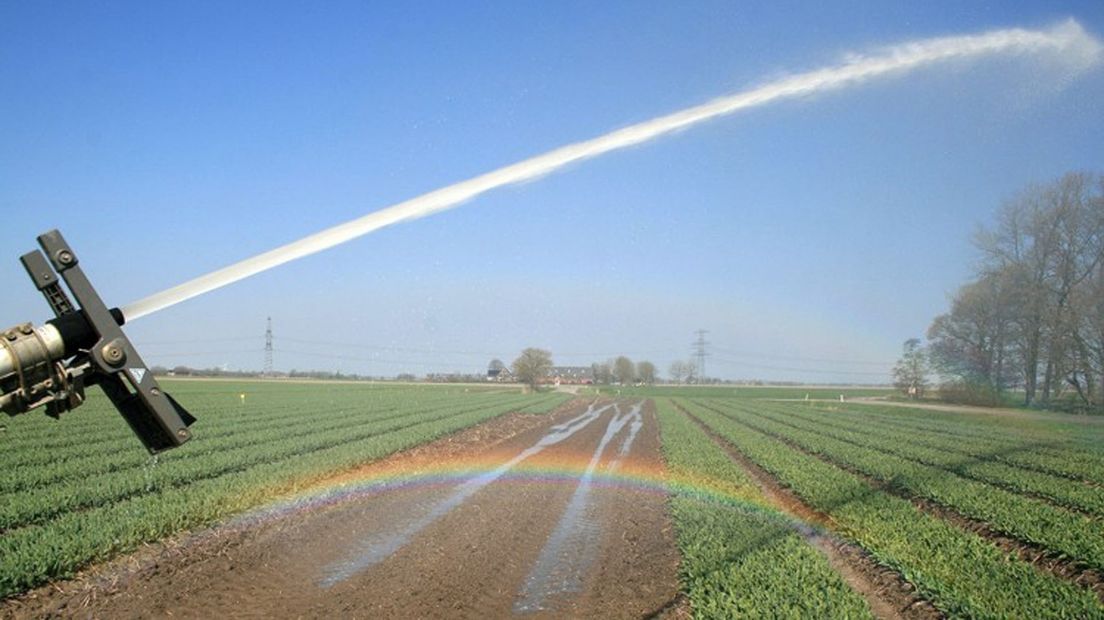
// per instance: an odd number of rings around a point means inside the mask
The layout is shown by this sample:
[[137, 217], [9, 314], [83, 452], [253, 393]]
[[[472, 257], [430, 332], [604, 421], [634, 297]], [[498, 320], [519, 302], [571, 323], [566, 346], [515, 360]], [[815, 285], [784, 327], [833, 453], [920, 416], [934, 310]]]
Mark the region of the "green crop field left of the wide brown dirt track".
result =
[[201, 421], [185, 449], [156, 459], [98, 393], [60, 421], [7, 420], [0, 595], [70, 576], [333, 471], [567, 398], [453, 386], [187, 381], [166, 387]]

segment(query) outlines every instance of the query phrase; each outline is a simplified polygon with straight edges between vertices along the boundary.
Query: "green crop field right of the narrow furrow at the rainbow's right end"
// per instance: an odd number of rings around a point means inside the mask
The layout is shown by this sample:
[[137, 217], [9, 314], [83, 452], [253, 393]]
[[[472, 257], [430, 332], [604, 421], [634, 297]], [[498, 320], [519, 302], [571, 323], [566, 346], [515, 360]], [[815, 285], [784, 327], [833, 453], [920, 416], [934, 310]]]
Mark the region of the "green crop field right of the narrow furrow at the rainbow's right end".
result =
[[[836, 539], [951, 617], [1104, 616], [1100, 429], [868, 405], [678, 398]], [[1076, 505], [1076, 507], [1071, 507]]]

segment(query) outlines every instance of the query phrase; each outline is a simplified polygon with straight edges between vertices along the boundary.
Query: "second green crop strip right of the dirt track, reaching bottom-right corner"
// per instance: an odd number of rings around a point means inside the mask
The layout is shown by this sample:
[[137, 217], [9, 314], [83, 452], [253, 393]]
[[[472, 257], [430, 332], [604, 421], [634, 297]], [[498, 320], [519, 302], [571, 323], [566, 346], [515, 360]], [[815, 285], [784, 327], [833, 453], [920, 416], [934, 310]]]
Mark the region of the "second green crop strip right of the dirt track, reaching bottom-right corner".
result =
[[895, 569], [948, 616], [1104, 618], [1104, 607], [1089, 590], [1008, 556], [977, 534], [712, 408], [688, 400], [679, 405], [826, 513], [837, 533]]

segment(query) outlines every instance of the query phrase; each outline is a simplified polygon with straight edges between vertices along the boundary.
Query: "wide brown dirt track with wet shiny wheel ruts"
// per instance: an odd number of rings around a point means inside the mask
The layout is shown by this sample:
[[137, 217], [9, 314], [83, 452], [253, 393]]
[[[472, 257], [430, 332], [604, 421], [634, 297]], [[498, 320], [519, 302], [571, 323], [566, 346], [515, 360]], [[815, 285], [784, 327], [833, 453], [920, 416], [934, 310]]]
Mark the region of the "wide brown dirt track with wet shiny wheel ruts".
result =
[[463, 477], [193, 537], [9, 601], [3, 612], [641, 618], [677, 600], [666, 498], [599, 483], [611, 470], [661, 471], [650, 408], [580, 405], [461, 435], [468, 439], [438, 441], [358, 475], [481, 463]]

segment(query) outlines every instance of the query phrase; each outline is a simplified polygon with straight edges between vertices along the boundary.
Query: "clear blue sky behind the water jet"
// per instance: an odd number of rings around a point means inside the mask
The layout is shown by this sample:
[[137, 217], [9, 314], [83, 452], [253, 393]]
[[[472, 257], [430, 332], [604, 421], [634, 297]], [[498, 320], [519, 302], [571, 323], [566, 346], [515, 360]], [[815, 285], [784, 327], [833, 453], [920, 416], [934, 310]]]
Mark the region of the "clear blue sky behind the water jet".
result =
[[[469, 6], [470, 4], [470, 6]], [[580, 139], [904, 40], [1086, 2], [6, 2], [0, 323], [60, 227], [109, 303]], [[782, 103], [136, 321], [151, 364], [479, 372], [528, 345], [884, 381], [1002, 201], [1104, 170], [1104, 71], [935, 67]], [[847, 362], [847, 363], [845, 363]], [[799, 370], [793, 370], [799, 368]], [[869, 374], [868, 374], [869, 373]], [[882, 373], [882, 374], [879, 374]]]

